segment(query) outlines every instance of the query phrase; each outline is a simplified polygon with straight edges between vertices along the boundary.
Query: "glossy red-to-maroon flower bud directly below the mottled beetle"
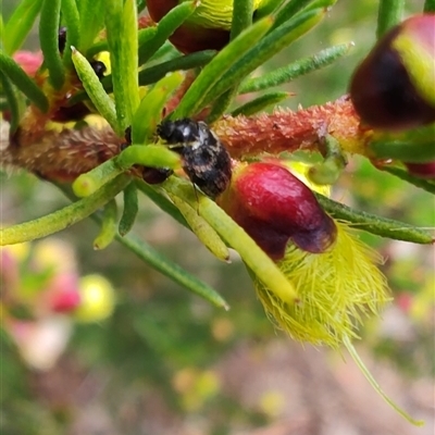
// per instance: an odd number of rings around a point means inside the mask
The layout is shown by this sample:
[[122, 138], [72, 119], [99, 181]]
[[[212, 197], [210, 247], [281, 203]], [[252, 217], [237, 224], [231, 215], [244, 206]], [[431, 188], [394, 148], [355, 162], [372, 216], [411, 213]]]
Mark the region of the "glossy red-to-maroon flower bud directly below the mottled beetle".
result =
[[219, 203], [274, 260], [284, 257], [289, 239], [320, 253], [336, 238], [335, 223], [313, 192], [279, 163], [237, 167]]

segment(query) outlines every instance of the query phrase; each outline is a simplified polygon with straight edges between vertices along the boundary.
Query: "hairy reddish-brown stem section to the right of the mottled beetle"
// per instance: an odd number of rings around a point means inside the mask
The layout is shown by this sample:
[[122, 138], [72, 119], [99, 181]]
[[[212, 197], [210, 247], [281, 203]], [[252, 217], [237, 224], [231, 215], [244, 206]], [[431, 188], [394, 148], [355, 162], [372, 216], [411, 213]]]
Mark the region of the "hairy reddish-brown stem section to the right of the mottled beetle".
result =
[[278, 154], [318, 149], [319, 138], [326, 133], [338, 140], [344, 151], [366, 152], [364, 139], [368, 132], [360, 126], [347, 97], [297, 112], [279, 109], [272, 114], [249, 117], [226, 115], [213, 124], [213, 130], [227, 145], [234, 159], [262, 152]]

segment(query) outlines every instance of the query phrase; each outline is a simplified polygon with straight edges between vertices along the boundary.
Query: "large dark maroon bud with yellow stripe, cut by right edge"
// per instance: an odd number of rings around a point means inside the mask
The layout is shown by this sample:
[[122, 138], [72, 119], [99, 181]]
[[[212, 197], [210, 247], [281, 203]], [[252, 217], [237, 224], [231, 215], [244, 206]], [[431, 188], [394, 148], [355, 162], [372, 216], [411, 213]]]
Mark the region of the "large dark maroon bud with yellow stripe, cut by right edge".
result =
[[435, 121], [435, 15], [391, 28], [358, 66], [350, 97], [374, 128], [407, 129]]

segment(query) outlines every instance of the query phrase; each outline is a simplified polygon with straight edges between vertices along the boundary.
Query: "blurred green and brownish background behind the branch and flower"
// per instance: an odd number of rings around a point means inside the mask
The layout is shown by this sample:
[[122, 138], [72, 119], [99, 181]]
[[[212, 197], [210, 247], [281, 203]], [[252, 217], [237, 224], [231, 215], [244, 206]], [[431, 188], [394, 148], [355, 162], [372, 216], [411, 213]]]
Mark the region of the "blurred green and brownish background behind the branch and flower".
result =
[[[3, 1], [5, 20], [16, 3]], [[355, 42], [346, 59], [286, 86], [296, 94], [290, 108], [346, 92], [352, 70], [374, 42], [377, 3], [338, 1], [320, 26], [265, 66]], [[408, 1], [407, 15], [422, 5]], [[37, 47], [36, 34], [27, 47]], [[362, 159], [350, 162], [334, 197], [360, 210], [434, 227], [432, 196]], [[2, 225], [66, 203], [55, 187], [35, 176], [1, 175]], [[74, 251], [79, 275], [98, 273], [112, 283], [114, 312], [98, 323], [75, 323], [66, 350], [47, 371], [29, 368], [2, 332], [1, 434], [434, 433], [433, 247], [361, 233], [385, 256], [383, 271], [396, 299], [383, 321], [361, 332], [359, 349], [390, 396], [425, 418], [426, 426], [417, 430], [376, 396], [351, 362], [345, 364], [337, 352], [294, 344], [275, 331], [237, 256], [232, 264], [217, 262], [149, 200], [140, 201], [134, 232], [213, 285], [229, 302], [228, 312], [190, 295], [116, 244], [94, 251], [97, 232], [87, 220], [54, 237]]]

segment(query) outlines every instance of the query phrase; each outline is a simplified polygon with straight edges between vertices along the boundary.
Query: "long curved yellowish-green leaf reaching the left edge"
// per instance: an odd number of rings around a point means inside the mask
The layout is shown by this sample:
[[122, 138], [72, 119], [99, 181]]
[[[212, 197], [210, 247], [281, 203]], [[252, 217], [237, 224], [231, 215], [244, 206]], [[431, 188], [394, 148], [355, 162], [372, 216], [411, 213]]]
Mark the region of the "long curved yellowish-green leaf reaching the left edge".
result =
[[65, 208], [30, 222], [25, 222], [0, 229], [0, 246], [22, 244], [58, 233], [83, 221], [114, 198], [129, 182], [129, 177], [121, 175], [105, 184], [94, 195], [80, 199]]

